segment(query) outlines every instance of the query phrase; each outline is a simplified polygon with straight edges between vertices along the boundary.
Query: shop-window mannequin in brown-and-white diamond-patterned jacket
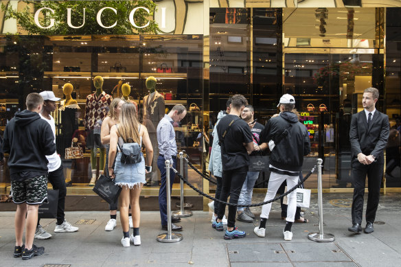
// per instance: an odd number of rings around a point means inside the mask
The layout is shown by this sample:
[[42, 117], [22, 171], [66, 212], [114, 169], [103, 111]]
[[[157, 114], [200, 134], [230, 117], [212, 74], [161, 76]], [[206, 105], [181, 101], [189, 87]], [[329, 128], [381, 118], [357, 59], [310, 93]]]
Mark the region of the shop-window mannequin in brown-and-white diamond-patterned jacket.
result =
[[87, 96], [87, 107], [85, 109], [85, 129], [89, 131], [87, 137], [87, 148], [91, 149], [91, 181], [89, 186], [95, 185], [96, 182], [96, 154], [98, 148], [99, 156], [99, 176], [104, 174], [104, 165], [106, 164], [106, 148], [100, 141], [100, 128], [102, 120], [106, 117], [108, 106], [110, 106], [113, 97], [103, 91], [103, 78], [96, 76], [93, 78], [95, 93]]

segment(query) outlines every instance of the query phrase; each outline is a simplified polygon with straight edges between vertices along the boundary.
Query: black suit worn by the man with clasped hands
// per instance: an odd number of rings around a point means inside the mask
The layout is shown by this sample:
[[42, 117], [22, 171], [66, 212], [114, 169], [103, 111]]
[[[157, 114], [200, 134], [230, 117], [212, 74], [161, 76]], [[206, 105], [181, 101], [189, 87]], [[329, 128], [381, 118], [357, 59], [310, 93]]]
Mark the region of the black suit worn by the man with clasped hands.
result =
[[[350, 143], [352, 152], [352, 181], [354, 198], [352, 200], [352, 224], [361, 224], [363, 195], [367, 176], [368, 191], [366, 221], [373, 223], [379, 204], [380, 185], [385, 163], [384, 150], [389, 139], [389, 117], [378, 110], [367, 124], [365, 111], [352, 115]], [[364, 165], [358, 161], [358, 154], [375, 156], [376, 161]]]

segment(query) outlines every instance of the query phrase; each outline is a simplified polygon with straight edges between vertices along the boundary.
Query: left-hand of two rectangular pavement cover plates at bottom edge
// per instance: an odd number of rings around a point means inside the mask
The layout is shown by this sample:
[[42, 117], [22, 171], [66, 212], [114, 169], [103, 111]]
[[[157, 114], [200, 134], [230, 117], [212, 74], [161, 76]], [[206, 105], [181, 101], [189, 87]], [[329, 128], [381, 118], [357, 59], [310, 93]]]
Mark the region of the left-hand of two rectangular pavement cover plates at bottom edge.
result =
[[227, 251], [230, 262], [289, 262], [280, 244], [229, 244]]

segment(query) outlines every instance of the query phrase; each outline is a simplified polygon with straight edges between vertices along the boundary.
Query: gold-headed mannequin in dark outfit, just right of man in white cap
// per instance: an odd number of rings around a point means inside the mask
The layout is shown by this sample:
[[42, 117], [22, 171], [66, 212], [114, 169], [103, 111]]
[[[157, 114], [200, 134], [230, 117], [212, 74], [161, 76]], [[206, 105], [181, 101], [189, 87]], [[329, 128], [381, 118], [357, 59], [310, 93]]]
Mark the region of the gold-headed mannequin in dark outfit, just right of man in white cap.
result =
[[[73, 100], [71, 97], [71, 93], [73, 91], [73, 86], [70, 83], [64, 84], [62, 86], [62, 93], [65, 95], [65, 100], [60, 102], [60, 117], [61, 117], [61, 135], [62, 135], [62, 144], [63, 148], [60, 149], [60, 154], [62, 158], [65, 156], [65, 148], [69, 148], [71, 146], [71, 139], [73, 132], [78, 129], [78, 110], [80, 110], [80, 106], [78, 106], [78, 102]], [[65, 185], [67, 187], [72, 185], [71, 181], [71, 172], [72, 167], [66, 167], [67, 175], [65, 176]]]

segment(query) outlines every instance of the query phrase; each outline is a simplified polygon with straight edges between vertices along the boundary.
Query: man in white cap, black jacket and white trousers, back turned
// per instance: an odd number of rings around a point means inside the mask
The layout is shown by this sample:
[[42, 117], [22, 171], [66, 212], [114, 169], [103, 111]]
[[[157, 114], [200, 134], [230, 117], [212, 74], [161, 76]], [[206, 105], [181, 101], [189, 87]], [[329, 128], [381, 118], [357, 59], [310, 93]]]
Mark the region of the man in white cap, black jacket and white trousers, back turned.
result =
[[[310, 153], [310, 141], [308, 130], [298, 121], [297, 115], [291, 112], [295, 106], [295, 99], [292, 95], [285, 94], [279, 102], [280, 114], [271, 118], [262, 131], [261, 139], [264, 143], [260, 146], [271, 150], [270, 178], [268, 180], [268, 191], [264, 201], [274, 198], [277, 189], [284, 180], [288, 188], [297, 185], [299, 172], [302, 170], [303, 156]], [[297, 192], [292, 191], [287, 196], [288, 208], [286, 227], [284, 228], [284, 240], [293, 239], [293, 226], [295, 210], [297, 209]], [[266, 232], [266, 222], [271, 210], [271, 203], [263, 205], [260, 214], [260, 226], [255, 227], [253, 232], [264, 237]]]

